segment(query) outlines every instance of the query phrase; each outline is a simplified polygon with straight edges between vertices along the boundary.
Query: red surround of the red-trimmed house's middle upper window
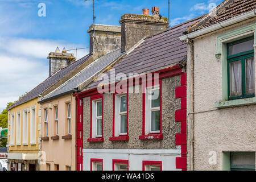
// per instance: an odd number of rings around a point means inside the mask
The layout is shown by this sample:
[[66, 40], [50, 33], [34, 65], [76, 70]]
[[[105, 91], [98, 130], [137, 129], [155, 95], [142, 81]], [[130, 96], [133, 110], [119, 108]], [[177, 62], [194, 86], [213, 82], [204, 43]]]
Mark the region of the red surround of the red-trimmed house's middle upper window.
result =
[[127, 111], [127, 135], [120, 135], [119, 137], [115, 137], [115, 95], [118, 93], [113, 94], [113, 137], [110, 137], [109, 140], [110, 141], [122, 141], [122, 140], [129, 140], [129, 134], [128, 134], [128, 98], [129, 98], [129, 94], [128, 94], [128, 87], [127, 87], [127, 92], [126, 92], [126, 100], [127, 100], [127, 107], [126, 107], [126, 111]]

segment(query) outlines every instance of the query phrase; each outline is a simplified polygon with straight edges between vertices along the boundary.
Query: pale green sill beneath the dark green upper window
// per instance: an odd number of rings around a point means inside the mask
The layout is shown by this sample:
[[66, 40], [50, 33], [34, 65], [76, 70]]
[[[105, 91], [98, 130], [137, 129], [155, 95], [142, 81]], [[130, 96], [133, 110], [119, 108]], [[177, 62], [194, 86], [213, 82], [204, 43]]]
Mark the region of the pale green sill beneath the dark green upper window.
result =
[[214, 107], [217, 107], [218, 109], [221, 109], [221, 108], [228, 108], [228, 107], [254, 105], [254, 104], [256, 104], [256, 97], [242, 98], [242, 99], [231, 100], [231, 101], [216, 102], [214, 104]]

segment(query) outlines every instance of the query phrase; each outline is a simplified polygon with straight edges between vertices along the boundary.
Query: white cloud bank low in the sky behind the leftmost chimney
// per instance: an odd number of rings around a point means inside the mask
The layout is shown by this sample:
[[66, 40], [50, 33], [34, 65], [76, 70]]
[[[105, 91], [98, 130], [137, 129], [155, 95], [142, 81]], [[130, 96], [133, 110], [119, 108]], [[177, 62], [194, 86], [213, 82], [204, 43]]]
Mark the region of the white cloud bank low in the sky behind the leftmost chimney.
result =
[[[0, 39], [0, 110], [5, 108], [7, 102], [18, 100], [19, 96], [29, 92], [48, 77], [47, 56], [57, 46], [60, 51], [64, 46], [66, 49], [83, 47], [61, 40]], [[87, 53], [88, 49], [78, 50], [77, 59]]]

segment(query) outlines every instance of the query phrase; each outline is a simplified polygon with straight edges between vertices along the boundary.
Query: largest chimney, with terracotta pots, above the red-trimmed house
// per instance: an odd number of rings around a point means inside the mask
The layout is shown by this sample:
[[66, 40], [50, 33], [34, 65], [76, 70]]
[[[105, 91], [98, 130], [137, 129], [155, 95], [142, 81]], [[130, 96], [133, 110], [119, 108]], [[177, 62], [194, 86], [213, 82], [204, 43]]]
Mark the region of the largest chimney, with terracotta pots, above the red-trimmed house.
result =
[[[152, 9], [153, 10], [153, 9]], [[154, 7], [154, 15], [124, 14], [119, 21], [121, 24], [121, 52], [126, 52], [139, 42], [144, 36], [154, 35], [168, 26], [168, 19], [162, 18], [158, 7]], [[145, 9], [143, 9], [145, 11]]]

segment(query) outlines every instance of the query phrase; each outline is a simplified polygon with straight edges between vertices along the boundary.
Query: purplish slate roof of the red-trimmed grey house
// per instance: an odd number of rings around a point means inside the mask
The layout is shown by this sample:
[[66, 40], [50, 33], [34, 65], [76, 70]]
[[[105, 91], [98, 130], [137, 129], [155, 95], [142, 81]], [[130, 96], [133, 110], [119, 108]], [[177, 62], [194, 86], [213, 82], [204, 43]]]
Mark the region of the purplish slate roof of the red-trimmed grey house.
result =
[[[187, 44], [181, 42], [179, 37], [199, 18], [167, 28], [159, 34], [144, 39], [144, 42], [113, 66], [115, 75], [118, 73], [126, 76], [128, 73], [151, 73], [184, 61], [187, 57]], [[110, 77], [110, 72], [107, 74]], [[92, 82], [85, 90], [97, 88], [100, 82]]]

